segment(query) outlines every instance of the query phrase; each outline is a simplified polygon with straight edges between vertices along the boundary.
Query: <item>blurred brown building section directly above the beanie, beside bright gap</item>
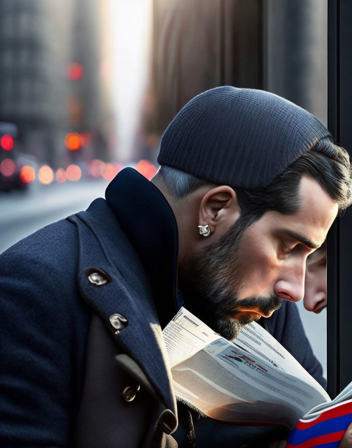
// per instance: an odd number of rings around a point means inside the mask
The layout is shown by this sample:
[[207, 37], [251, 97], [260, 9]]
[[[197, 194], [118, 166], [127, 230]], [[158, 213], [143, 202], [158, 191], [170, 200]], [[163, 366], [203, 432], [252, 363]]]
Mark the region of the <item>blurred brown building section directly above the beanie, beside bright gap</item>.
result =
[[160, 137], [189, 99], [225, 84], [263, 88], [262, 1], [153, 0], [146, 135]]

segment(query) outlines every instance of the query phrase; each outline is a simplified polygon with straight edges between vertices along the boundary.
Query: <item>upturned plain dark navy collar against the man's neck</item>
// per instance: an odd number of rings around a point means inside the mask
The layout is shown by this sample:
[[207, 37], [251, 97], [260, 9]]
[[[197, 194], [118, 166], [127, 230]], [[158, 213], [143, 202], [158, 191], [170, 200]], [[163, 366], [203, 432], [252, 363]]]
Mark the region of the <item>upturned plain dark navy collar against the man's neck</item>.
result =
[[161, 191], [132, 168], [117, 174], [105, 197], [147, 273], [163, 328], [179, 308], [178, 231], [173, 211]]

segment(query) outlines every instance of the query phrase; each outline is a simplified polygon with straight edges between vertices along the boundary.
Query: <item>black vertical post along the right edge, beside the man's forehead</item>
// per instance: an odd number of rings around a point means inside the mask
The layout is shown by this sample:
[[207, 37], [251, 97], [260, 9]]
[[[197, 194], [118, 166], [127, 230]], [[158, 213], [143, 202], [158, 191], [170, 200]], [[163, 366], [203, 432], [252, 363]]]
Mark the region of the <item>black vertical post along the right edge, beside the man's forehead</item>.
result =
[[[352, 2], [328, 1], [328, 127], [352, 148]], [[328, 237], [328, 391], [334, 396], [351, 380], [352, 208], [336, 220]]]

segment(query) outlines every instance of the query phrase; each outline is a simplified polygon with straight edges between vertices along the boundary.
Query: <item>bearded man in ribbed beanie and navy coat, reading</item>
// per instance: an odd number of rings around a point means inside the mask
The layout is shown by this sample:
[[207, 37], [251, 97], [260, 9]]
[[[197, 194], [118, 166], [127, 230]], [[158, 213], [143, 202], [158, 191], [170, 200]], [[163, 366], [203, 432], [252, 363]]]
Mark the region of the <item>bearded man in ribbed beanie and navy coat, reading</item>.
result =
[[[122, 170], [106, 201], [2, 254], [4, 446], [216, 446], [223, 425], [182, 407], [177, 422], [161, 328], [181, 303], [230, 338], [268, 318], [316, 368], [289, 302], [350, 203], [346, 152], [305, 110], [225, 86], [181, 109], [158, 161], [152, 182]], [[238, 426], [228, 446], [270, 430]]]

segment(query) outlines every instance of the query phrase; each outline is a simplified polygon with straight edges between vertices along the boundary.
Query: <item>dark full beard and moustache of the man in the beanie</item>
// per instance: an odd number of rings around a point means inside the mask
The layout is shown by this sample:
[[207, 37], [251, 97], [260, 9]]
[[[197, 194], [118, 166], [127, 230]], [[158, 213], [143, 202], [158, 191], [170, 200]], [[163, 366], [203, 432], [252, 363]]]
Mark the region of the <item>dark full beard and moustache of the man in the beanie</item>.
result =
[[246, 227], [246, 220], [239, 217], [218, 241], [179, 268], [184, 306], [228, 340], [237, 337], [242, 326], [258, 320], [259, 313], [267, 315], [281, 306], [276, 295], [237, 298], [243, 281], [238, 278], [240, 241]]

